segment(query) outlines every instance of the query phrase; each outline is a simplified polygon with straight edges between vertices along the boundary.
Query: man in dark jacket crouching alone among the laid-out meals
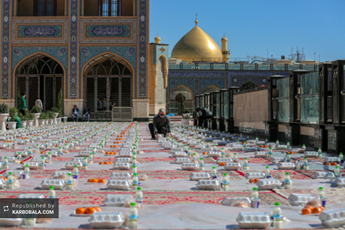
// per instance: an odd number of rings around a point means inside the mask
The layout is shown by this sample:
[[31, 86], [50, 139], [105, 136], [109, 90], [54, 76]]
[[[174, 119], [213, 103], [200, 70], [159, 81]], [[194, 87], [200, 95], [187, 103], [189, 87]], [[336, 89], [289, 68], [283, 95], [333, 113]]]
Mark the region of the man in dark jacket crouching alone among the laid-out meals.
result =
[[148, 124], [148, 128], [150, 128], [152, 140], [157, 140], [158, 133], [164, 134], [164, 137], [166, 137], [167, 134], [170, 136], [170, 119], [166, 116], [164, 108], [159, 109], [158, 115], [153, 117], [153, 124]]

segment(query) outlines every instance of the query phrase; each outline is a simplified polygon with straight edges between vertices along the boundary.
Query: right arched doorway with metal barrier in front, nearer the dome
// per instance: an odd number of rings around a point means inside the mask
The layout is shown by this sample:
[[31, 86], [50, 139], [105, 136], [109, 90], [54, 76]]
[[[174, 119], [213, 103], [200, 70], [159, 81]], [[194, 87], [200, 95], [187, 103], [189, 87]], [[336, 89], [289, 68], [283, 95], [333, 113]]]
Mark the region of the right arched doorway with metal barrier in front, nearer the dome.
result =
[[106, 111], [114, 103], [116, 107], [132, 107], [132, 68], [126, 60], [108, 53], [101, 55], [89, 61], [83, 75], [86, 106], [91, 111], [97, 111], [97, 97], [106, 98]]

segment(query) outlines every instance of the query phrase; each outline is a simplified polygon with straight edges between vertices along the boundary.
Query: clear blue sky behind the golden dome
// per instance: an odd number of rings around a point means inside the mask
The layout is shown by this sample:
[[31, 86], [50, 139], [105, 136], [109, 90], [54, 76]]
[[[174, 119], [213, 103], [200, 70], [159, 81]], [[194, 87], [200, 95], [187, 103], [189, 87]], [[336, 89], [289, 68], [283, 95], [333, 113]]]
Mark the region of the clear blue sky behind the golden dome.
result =
[[159, 30], [171, 53], [197, 13], [198, 26], [219, 46], [225, 30], [231, 58], [267, 57], [267, 49], [268, 57], [288, 58], [299, 47], [306, 59], [314, 52], [317, 61], [345, 59], [344, 10], [344, 0], [150, 0], [150, 42]]

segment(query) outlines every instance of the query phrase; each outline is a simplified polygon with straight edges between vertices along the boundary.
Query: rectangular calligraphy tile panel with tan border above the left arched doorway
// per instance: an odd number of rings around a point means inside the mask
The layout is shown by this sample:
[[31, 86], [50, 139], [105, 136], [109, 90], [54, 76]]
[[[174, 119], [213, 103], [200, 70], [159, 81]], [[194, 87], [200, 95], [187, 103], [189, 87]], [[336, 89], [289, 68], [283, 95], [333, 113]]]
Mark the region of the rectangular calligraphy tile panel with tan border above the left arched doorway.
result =
[[68, 43], [68, 19], [12, 19], [11, 25], [12, 44]]

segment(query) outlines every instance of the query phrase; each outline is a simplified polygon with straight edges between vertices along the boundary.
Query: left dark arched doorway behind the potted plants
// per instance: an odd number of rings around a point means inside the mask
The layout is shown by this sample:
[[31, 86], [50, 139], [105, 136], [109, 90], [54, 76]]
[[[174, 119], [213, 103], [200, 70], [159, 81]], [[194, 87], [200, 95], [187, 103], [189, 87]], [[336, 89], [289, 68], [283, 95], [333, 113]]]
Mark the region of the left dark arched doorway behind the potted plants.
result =
[[37, 54], [21, 61], [15, 76], [16, 90], [26, 92], [26, 106], [31, 109], [39, 97], [43, 110], [49, 111], [57, 106], [57, 97], [63, 88], [64, 71], [62, 66], [43, 54]]

